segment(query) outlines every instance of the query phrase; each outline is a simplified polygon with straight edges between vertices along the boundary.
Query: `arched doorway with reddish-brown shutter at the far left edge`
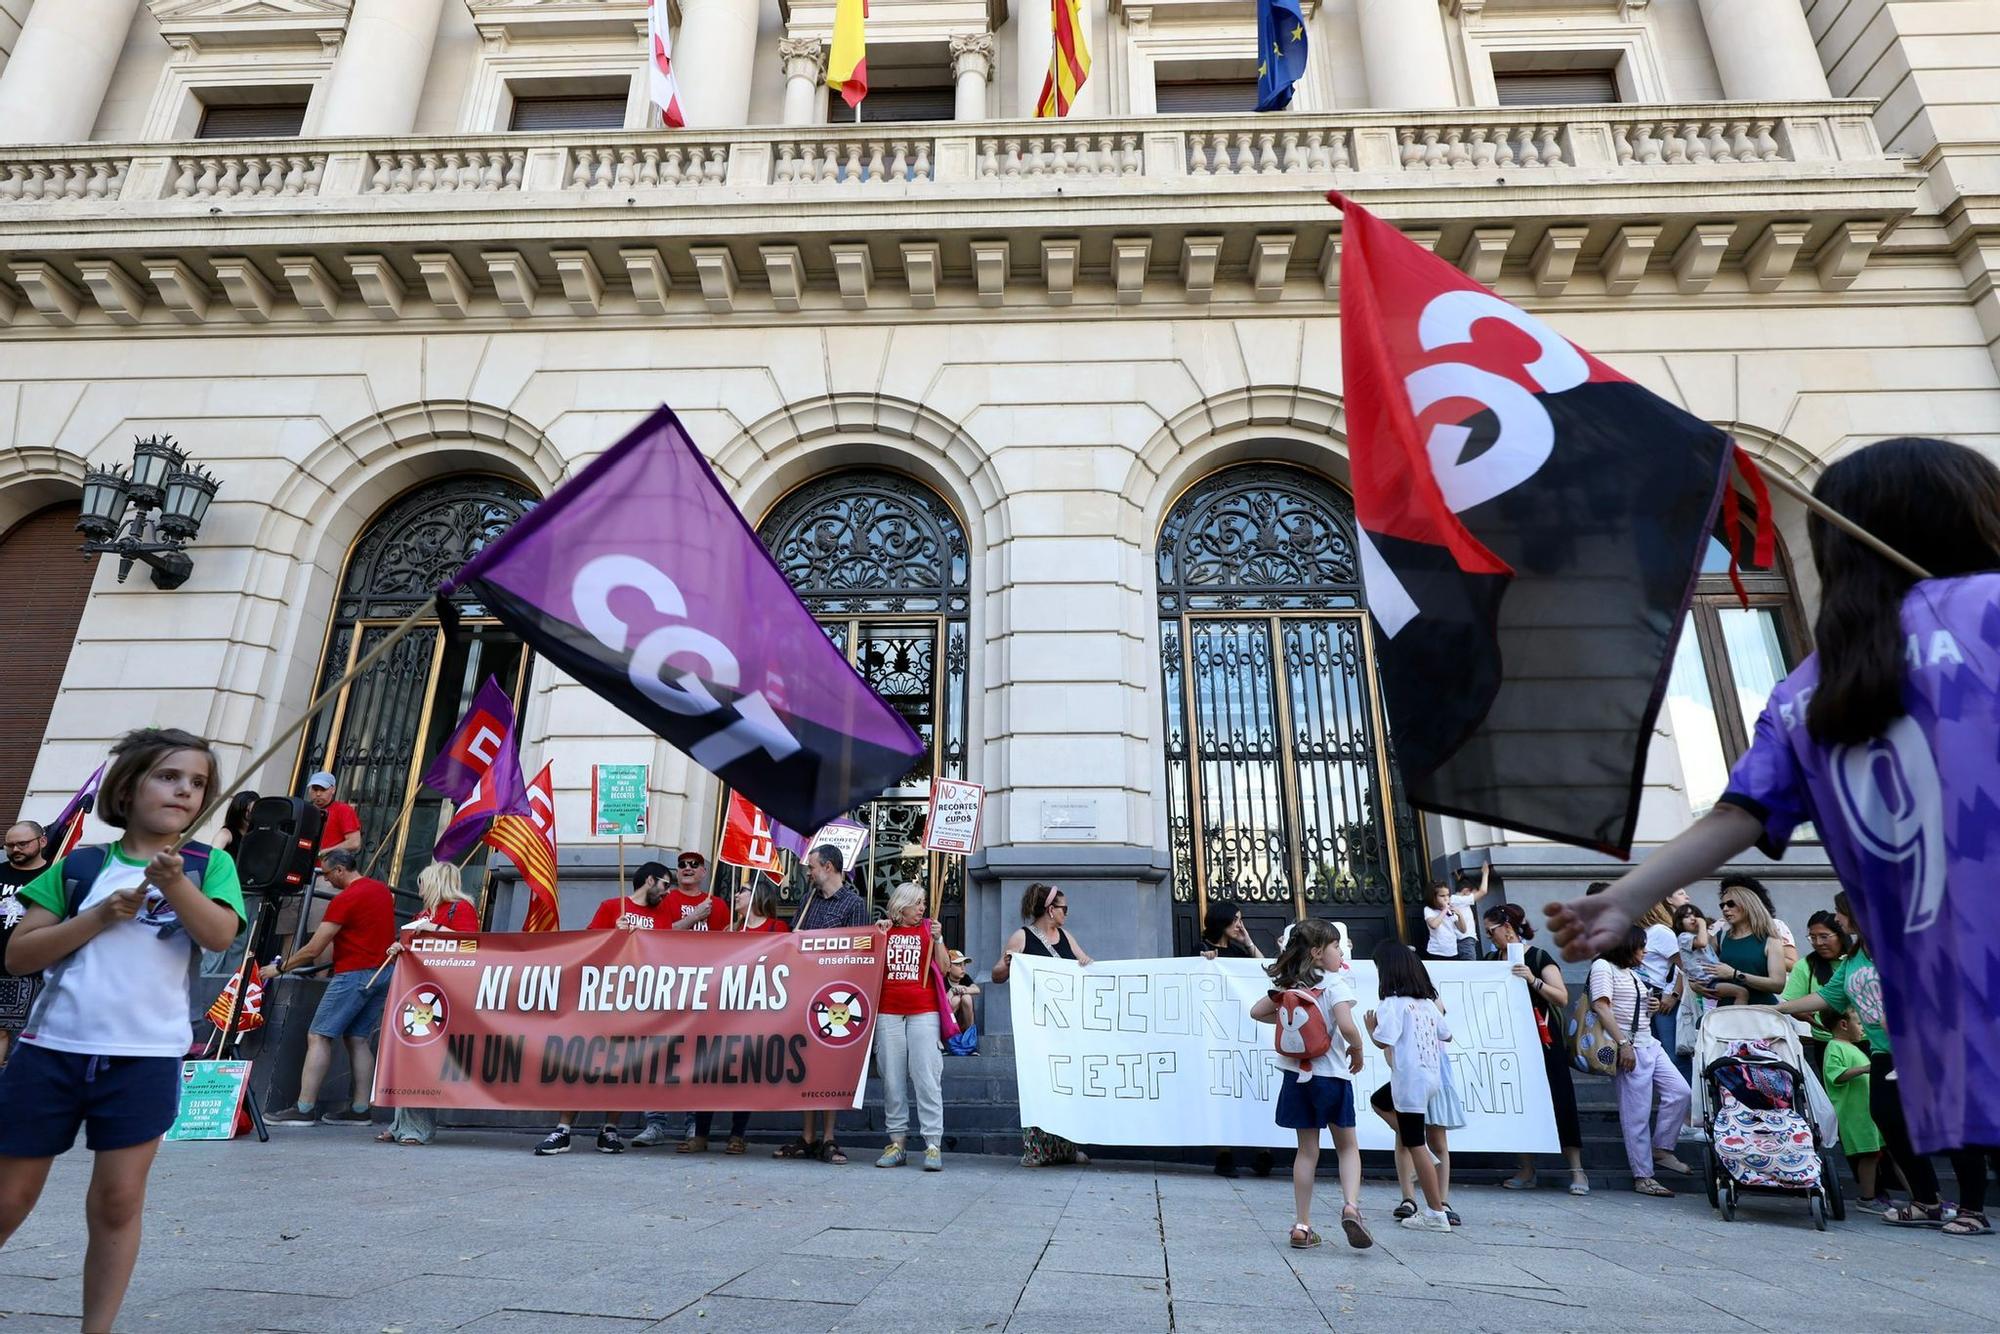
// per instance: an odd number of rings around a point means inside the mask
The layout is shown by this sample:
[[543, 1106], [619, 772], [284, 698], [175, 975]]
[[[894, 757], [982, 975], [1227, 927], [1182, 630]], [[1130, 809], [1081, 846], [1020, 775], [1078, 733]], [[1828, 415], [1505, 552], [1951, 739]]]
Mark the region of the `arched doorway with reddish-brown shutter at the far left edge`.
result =
[[[14, 524], [0, 538], [0, 588], [12, 588], [8, 604], [8, 670], [6, 690], [0, 690], [0, 818], [16, 816], [52, 820], [62, 806], [58, 796], [48, 810], [22, 810], [34, 760], [42, 754], [42, 734], [48, 714], [62, 692], [62, 672], [70, 664], [76, 626], [84, 620], [90, 600], [90, 580], [98, 572], [96, 556], [80, 556], [76, 536], [76, 502], [56, 504]], [[64, 776], [82, 782], [80, 774]]]

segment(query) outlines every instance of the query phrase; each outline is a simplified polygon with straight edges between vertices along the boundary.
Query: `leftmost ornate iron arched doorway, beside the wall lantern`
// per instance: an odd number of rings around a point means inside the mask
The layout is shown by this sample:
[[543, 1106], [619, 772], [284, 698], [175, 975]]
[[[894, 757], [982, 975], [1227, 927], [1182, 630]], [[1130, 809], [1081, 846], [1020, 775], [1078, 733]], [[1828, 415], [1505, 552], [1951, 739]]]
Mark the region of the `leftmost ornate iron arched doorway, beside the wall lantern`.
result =
[[[458, 566], [520, 518], [536, 494], [500, 476], [460, 474], [404, 492], [362, 530], [340, 572], [314, 694], [348, 672]], [[294, 792], [332, 770], [340, 798], [362, 820], [362, 860], [382, 850], [374, 874], [410, 888], [438, 838], [442, 798], [418, 782], [488, 676], [516, 700], [528, 680], [520, 638], [456, 598], [462, 632], [446, 642], [432, 620], [402, 638], [376, 668], [320, 714], [300, 750]], [[408, 806], [408, 820], [400, 820]], [[486, 852], [476, 852], [484, 858]]]

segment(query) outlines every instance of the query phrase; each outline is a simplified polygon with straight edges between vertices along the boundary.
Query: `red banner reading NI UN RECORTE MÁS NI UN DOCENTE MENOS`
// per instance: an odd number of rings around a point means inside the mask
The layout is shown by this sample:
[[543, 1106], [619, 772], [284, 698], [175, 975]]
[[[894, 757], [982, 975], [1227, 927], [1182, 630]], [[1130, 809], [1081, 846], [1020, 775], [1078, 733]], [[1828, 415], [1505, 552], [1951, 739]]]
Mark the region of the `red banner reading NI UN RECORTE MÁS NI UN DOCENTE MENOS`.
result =
[[382, 1020], [382, 1106], [858, 1106], [876, 930], [416, 936]]

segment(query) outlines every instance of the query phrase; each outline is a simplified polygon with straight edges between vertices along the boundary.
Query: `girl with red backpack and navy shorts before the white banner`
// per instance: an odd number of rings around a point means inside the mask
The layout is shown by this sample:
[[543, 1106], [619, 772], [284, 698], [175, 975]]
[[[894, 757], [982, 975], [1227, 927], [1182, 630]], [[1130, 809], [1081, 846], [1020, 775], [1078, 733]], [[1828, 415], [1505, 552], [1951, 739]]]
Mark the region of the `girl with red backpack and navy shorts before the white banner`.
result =
[[1340, 936], [1326, 922], [1298, 922], [1266, 970], [1272, 988], [1250, 1006], [1250, 1018], [1278, 1026], [1278, 1124], [1298, 1132], [1292, 1160], [1292, 1200], [1298, 1222], [1292, 1246], [1320, 1244], [1312, 1230], [1312, 1178], [1320, 1170], [1320, 1128], [1340, 1154], [1340, 1228], [1356, 1250], [1374, 1246], [1362, 1222], [1362, 1150], [1354, 1138], [1354, 1076], [1362, 1068], [1362, 1034], [1354, 1026], [1354, 986], [1340, 976]]

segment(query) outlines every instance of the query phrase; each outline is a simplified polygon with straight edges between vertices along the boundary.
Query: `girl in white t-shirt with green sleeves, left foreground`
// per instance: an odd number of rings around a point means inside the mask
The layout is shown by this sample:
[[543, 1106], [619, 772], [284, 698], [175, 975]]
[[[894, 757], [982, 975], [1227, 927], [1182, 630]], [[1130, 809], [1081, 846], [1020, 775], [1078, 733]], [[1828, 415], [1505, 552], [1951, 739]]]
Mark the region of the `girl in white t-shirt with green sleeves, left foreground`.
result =
[[194, 1040], [188, 974], [244, 924], [230, 854], [172, 850], [214, 782], [216, 756], [200, 736], [128, 732], [98, 796], [98, 816], [124, 836], [78, 848], [20, 890], [30, 908], [6, 964], [46, 970], [48, 982], [0, 1072], [0, 1246], [84, 1130], [96, 1152], [84, 1200], [86, 1330], [112, 1328], [132, 1282], [146, 1176], [180, 1110], [180, 1058]]

